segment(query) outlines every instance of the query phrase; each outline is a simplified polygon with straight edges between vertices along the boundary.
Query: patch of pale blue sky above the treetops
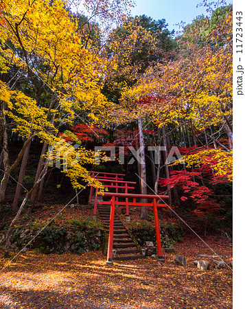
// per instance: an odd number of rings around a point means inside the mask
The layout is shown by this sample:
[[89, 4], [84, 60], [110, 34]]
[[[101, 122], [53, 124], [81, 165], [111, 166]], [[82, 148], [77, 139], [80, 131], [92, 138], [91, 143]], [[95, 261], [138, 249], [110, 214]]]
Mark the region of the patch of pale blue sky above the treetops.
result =
[[[191, 23], [196, 16], [208, 14], [205, 7], [196, 5], [202, 0], [135, 0], [135, 8], [132, 9], [132, 16], [145, 14], [152, 19], [165, 19], [169, 30], [178, 31], [174, 25], [185, 21]], [[227, 1], [231, 3], [232, 1]]]

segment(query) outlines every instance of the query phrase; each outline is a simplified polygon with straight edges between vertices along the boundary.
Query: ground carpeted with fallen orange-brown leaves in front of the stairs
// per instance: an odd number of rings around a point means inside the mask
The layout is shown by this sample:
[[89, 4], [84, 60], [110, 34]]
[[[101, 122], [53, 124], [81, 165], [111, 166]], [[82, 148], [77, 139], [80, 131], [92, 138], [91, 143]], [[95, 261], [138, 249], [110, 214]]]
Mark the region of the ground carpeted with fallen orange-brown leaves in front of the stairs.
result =
[[[231, 244], [221, 238], [205, 242], [225, 262]], [[19, 255], [0, 273], [0, 308], [232, 308], [232, 271], [199, 271], [197, 253], [213, 255], [198, 238], [185, 237], [175, 246], [187, 266], [176, 266], [174, 254], [165, 262], [152, 258], [106, 266], [100, 252], [82, 255]], [[0, 255], [1, 268], [10, 260]], [[202, 259], [202, 258], [199, 258]]]

